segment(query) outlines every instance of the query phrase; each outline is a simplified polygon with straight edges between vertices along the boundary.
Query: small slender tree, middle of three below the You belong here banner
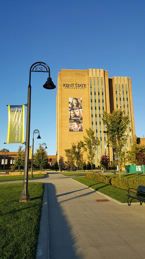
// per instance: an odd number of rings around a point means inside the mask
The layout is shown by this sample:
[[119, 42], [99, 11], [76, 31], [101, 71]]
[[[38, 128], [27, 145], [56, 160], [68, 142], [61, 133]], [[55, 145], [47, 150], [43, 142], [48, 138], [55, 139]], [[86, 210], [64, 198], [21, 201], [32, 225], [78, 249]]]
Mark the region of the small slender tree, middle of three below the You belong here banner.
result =
[[72, 143], [72, 151], [73, 151], [73, 155], [74, 155], [74, 158], [76, 161], [78, 174], [79, 174], [79, 163], [80, 163], [81, 157], [82, 157], [82, 152], [81, 152], [82, 146], [83, 146], [82, 141], [79, 141], [77, 145], [75, 143]]

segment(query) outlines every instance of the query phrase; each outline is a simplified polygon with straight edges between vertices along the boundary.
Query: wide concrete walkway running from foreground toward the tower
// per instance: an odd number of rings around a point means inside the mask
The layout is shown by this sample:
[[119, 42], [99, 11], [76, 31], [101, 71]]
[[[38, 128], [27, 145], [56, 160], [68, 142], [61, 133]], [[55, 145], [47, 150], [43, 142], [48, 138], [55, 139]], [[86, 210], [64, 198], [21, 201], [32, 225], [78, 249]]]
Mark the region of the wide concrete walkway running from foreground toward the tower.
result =
[[97, 202], [106, 196], [61, 176], [43, 180], [36, 259], [145, 258], [145, 204], [129, 207], [109, 197]]

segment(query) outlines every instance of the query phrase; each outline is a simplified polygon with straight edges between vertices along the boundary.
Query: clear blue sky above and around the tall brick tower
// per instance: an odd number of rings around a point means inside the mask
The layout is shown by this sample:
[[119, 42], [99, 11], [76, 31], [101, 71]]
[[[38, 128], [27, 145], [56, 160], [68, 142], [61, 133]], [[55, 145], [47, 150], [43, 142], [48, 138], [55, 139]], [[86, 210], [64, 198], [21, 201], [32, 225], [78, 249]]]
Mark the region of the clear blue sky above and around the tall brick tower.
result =
[[[3, 144], [6, 105], [27, 103], [29, 69], [37, 61], [50, 66], [56, 86], [63, 68], [103, 68], [109, 77], [131, 77], [136, 135], [145, 136], [144, 13], [144, 0], [1, 0], [0, 149], [18, 149], [19, 144]], [[46, 73], [32, 73], [30, 145], [34, 129], [39, 129], [48, 155], [55, 155], [57, 88], [44, 89], [46, 79]], [[36, 137], [34, 151], [40, 142]]]

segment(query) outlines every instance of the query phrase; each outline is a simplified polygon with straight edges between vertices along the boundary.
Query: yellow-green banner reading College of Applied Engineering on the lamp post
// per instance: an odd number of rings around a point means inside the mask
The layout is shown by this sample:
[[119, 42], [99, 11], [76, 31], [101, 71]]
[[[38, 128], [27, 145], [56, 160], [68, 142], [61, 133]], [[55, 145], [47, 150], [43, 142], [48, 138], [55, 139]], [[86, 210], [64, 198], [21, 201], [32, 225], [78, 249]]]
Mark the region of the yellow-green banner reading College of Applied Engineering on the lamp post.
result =
[[24, 105], [8, 105], [7, 143], [24, 142]]

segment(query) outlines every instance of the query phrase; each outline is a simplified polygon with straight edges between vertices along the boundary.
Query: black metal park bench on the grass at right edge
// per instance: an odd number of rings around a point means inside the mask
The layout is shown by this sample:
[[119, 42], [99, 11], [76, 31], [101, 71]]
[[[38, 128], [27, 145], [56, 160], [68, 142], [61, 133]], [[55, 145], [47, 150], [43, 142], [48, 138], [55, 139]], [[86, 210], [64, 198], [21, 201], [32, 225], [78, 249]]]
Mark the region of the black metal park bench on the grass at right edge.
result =
[[[135, 190], [136, 191], [135, 196], [130, 194], [129, 190]], [[143, 201], [145, 202], [145, 186], [138, 186], [137, 189], [129, 188], [127, 196], [128, 196], [128, 206], [131, 205], [131, 202], [133, 199], [139, 200], [140, 205], [142, 205]], [[131, 198], [130, 203], [129, 203], [129, 198]]]

